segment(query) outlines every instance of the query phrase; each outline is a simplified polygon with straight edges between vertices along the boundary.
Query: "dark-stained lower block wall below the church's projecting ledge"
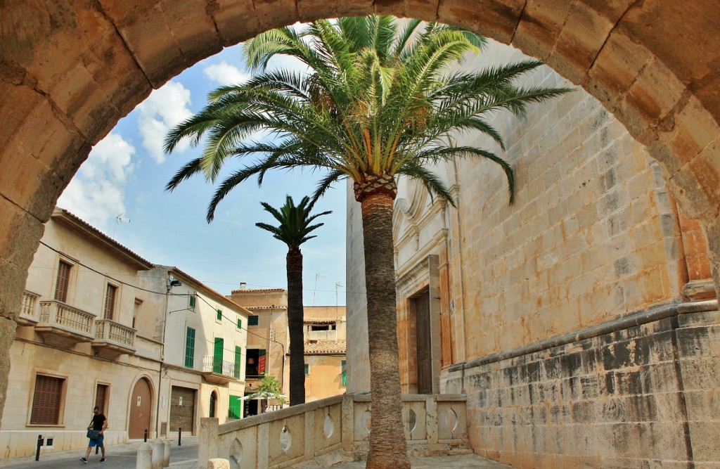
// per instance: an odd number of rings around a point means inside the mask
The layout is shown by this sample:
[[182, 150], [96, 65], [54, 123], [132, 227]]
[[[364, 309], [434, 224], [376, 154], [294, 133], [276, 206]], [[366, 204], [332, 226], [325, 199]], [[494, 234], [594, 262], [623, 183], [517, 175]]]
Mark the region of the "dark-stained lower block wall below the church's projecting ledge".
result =
[[716, 468], [717, 321], [714, 301], [663, 305], [451, 367], [444, 384], [467, 393], [475, 452], [518, 468]]

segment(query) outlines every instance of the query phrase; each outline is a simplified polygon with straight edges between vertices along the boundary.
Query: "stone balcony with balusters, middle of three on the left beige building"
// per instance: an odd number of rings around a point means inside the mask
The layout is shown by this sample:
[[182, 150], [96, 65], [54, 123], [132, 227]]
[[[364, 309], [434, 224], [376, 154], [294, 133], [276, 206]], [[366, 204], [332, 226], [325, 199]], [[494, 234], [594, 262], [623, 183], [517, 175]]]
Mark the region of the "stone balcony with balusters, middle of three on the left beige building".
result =
[[35, 332], [46, 344], [58, 347], [72, 347], [78, 342], [94, 339], [95, 315], [73, 308], [60, 301], [41, 301], [40, 319]]

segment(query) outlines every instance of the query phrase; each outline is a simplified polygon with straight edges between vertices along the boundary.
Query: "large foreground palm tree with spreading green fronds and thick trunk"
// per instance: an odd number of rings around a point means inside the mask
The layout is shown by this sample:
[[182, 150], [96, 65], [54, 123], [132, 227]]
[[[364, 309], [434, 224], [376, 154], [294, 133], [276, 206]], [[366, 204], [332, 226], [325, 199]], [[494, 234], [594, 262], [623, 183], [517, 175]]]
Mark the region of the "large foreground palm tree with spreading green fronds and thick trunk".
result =
[[[315, 21], [299, 31], [270, 30], [248, 41], [243, 53], [257, 72], [246, 84], [210, 94], [201, 112], [176, 126], [166, 138], [173, 151], [183, 138], [194, 145], [204, 137], [201, 156], [168, 182], [203, 174], [210, 181], [231, 157], [243, 164], [222, 180], [207, 219], [238, 184], [266, 171], [309, 167], [320, 171], [314, 197], [335, 182], [351, 179], [361, 203], [372, 423], [368, 468], [409, 468], [400, 411], [392, 207], [398, 175], [419, 179], [433, 195], [452, 197], [428, 165], [453, 158], [494, 161], [508, 179], [510, 165], [498, 154], [474, 146], [451, 146], [451, 133], [489, 135], [503, 150], [503, 139], [485, 120], [491, 112], [523, 115], [527, 104], [567, 91], [522, 88], [513, 83], [541, 65], [521, 61], [477, 73], [449, 72], [466, 53], [477, 53], [485, 38], [454, 27], [392, 17]], [[275, 55], [298, 58], [308, 73], [269, 71]], [[253, 141], [269, 130], [271, 141]], [[255, 158], [253, 158], [253, 156]]]

